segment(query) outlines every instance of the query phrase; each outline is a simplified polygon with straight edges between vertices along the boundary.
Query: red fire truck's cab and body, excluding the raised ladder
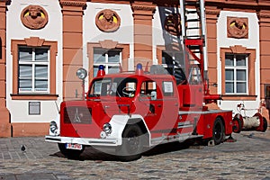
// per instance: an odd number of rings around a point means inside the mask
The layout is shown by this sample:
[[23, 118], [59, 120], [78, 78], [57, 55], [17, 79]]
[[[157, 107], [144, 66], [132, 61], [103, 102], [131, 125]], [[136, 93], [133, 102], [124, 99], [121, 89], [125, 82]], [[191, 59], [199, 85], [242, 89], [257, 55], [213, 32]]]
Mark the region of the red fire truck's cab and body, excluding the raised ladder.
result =
[[[79, 152], [85, 146], [118, 151], [130, 126], [139, 129], [139, 136], [146, 135], [139, 144], [144, 148], [193, 138], [213, 139], [219, 144], [230, 136], [232, 112], [209, 110], [202, 105], [202, 83], [192, 85], [184, 78], [176, 85], [175, 76], [138, 68], [135, 73], [112, 75], [104, 75], [101, 69], [84, 100], [61, 103], [60, 130], [46, 136], [46, 140], [58, 142], [61, 151], [70, 156], [70, 151], [76, 154], [78, 150], [70, 146], [73, 144], [79, 144]], [[208, 99], [210, 96], [207, 94]]]

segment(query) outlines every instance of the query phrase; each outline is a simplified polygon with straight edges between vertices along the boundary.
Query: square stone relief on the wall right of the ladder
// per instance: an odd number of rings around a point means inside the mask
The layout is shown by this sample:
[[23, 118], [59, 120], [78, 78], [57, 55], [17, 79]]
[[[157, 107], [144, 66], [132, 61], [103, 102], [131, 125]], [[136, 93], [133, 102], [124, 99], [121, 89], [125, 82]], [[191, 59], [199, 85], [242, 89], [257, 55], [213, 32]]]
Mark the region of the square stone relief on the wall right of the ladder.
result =
[[248, 19], [239, 17], [227, 17], [228, 38], [247, 39]]

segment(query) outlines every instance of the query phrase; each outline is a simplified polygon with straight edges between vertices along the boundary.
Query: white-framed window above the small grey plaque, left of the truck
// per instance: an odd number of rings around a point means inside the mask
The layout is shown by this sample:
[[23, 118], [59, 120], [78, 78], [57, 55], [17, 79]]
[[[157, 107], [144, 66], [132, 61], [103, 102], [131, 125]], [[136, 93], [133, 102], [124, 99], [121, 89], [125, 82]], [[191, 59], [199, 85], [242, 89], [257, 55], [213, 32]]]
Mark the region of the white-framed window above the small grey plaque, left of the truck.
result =
[[49, 93], [49, 47], [20, 46], [19, 93]]

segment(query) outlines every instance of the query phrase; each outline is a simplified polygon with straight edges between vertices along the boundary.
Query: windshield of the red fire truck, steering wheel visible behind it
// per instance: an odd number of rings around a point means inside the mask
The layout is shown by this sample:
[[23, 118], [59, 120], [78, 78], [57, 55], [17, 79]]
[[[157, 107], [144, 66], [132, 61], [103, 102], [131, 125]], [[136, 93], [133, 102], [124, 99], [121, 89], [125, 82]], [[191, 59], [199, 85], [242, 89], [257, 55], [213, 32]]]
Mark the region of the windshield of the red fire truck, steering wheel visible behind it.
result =
[[120, 96], [133, 97], [137, 89], [137, 79], [135, 78], [102, 78], [94, 80], [89, 91], [89, 97], [98, 96]]

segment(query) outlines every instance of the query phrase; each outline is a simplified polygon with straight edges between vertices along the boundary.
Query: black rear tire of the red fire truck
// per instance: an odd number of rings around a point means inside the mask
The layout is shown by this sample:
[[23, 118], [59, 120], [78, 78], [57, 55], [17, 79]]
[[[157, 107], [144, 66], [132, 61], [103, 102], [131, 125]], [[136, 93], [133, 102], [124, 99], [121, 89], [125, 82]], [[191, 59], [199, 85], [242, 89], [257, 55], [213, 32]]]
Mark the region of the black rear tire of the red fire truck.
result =
[[215, 145], [220, 144], [225, 139], [225, 128], [219, 117], [215, 120], [212, 128], [212, 139], [214, 140]]

